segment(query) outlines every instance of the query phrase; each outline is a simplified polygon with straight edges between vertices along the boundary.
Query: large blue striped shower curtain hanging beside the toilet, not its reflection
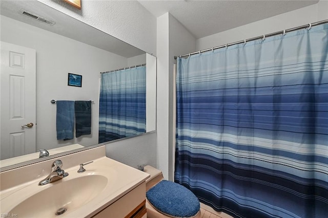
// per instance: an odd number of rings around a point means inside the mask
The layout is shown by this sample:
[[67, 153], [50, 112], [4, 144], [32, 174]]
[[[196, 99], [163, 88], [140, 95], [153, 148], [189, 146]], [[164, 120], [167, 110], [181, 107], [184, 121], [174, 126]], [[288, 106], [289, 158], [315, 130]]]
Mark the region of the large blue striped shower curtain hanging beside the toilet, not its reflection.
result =
[[328, 25], [178, 58], [175, 182], [234, 217], [328, 217]]

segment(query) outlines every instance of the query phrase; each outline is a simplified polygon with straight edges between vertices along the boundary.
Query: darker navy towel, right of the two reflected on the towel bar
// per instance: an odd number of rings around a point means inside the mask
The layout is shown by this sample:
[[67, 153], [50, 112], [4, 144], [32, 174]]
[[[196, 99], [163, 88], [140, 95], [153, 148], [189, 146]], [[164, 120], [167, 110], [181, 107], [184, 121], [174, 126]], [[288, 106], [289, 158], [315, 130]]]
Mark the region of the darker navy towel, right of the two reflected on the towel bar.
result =
[[91, 134], [91, 101], [75, 101], [75, 136]]

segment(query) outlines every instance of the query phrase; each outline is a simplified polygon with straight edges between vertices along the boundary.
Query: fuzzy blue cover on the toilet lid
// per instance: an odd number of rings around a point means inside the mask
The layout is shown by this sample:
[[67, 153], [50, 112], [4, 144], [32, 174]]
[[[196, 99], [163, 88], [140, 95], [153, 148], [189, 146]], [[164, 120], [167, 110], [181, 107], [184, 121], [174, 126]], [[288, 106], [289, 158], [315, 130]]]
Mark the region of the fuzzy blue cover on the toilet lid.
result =
[[162, 180], [146, 192], [149, 203], [158, 211], [177, 217], [191, 217], [197, 214], [200, 204], [188, 188]]

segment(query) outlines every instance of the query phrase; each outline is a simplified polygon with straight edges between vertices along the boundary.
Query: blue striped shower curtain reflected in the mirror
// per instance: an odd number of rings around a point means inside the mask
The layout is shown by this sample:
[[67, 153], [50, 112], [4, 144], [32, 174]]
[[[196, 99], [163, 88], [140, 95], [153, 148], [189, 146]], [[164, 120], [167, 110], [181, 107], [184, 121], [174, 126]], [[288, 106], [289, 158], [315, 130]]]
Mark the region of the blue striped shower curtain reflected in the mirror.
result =
[[101, 74], [99, 143], [146, 132], [146, 66]]

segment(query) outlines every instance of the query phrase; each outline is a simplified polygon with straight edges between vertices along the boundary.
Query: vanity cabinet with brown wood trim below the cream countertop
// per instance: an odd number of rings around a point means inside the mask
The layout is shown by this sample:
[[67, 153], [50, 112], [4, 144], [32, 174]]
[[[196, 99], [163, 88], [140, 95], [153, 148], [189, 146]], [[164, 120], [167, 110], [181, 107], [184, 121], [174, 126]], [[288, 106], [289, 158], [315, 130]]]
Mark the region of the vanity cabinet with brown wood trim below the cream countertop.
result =
[[[113, 187], [115, 188], [115, 187]], [[146, 182], [141, 183], [93, 218], [146, 218]]]

